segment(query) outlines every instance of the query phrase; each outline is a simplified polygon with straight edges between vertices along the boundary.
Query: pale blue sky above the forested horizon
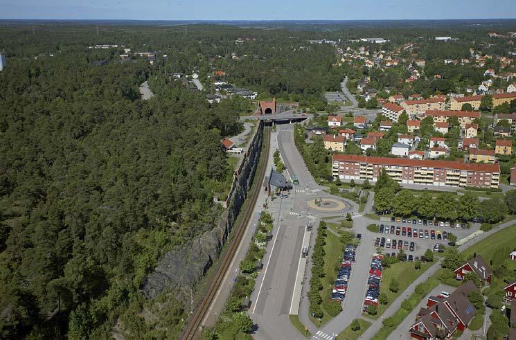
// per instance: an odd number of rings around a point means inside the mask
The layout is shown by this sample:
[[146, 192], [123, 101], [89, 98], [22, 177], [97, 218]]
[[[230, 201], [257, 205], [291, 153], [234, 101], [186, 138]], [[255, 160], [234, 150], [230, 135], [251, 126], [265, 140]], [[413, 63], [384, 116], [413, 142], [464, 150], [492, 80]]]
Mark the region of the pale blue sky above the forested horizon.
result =
[[0, 0], [0, 19], [382, 20], [516, 18], [515, 0]]

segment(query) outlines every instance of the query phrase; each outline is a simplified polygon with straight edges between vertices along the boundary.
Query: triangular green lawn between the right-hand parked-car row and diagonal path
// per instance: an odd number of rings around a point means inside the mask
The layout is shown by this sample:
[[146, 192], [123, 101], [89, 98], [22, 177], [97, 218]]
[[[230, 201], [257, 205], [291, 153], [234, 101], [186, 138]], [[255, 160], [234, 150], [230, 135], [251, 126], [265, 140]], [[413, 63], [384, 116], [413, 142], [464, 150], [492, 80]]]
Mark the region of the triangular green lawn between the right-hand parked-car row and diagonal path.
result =
[[[389, 268], [385, 268], [382, 271], [382, 281], [380, 283], [380, 292], [385, 293], [387, 295], [387, 299], [389, 303], [386, 305], [378, 306], [378, 314], [371, 315], [371, 319], [378, 319], [380, 315], [389, 307], [390, 303], [395, 300], [411, 283], [413, 283], [416, 278], [418, 278], [421, 274], [423, 274], [429, 267], [431, 267], [434, 262], [425, 262], [422, 263], [421, 269], [414, 269], [414, 262], [398, 262]], [[398, 281], [398, 289], [397, 293], [393, 293], [389, 290], [389, 284], [391, 283], [392, 278], [395, 278]]]

